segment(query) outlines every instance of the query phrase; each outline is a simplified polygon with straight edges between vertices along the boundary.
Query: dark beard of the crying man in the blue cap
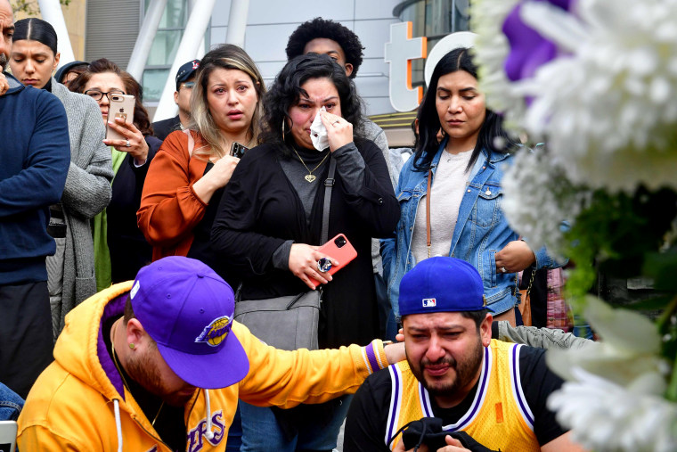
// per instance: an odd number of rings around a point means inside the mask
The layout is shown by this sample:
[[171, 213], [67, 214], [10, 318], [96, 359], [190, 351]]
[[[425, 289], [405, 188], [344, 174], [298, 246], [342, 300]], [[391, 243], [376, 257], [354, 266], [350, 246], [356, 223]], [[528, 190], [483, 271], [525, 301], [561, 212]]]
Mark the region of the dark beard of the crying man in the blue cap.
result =
[[[428, 358], [423, 357], [418, 366], [412, 366], [412, 361], [407, 356], [409, 367], [416, 379], [423, 384], [423, 387], [428, 390], [432, 396], [453, 396], [457, 391], [467, 387], [470, 382], [477, 376], [477, 372], [482, 366], [482, 357], [485, 347], [482, 345], [482, 338], [477, 337], [477, 347], [470, 350], [468, 359], [461, 362], [456, 361], [453, 357], [443, 357], [442, 359], [431, 362]], [[424, 374], [426, 366], [436, 366], [446, 364], [453, 369], [455, 377], [451, 382], [436, 382], [435, 380], [428, 381]]]

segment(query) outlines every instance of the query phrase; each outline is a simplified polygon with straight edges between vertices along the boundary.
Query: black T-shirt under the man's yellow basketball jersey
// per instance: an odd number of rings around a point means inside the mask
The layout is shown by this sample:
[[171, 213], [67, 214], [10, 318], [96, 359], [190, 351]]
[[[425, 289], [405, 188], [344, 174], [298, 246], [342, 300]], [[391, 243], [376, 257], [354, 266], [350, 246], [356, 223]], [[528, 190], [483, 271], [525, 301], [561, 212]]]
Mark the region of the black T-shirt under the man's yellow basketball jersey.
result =
[[[562, 379], [545, 364], [545, 350], [523, 346], [519, 351], [519, 377], [526, 401], [534, 414], [534, 433], [542, 446], [563, 435], [564, 430], [555, 414], [546, 407], [548, 396], [559, 390]], [[355, 393], [346, 420], [343, 444], [345, 452], [387, 452], [385, 437], [391, 397], [390, 373], [387, 369], [371, 374]], [[430, 397], [433, 414], [443, 420], [443, 425], [457, 423], [475, 399], [477, 384], [463, 401], [452, 408], [437, 407]], [[477, 440], [477, 439], [476, 439]]]

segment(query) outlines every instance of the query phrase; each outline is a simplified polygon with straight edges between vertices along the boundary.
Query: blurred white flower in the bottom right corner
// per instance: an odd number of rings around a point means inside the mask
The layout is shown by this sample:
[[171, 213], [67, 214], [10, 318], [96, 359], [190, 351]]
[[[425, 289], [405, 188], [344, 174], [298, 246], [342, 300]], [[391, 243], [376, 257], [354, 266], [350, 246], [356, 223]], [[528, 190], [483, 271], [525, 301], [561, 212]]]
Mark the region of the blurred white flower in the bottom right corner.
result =
[[571, 429], [576, 443], [596, 452], [677, 450], [673, 403], [627, 390], [580, 368], [572, 369], [572, 374], [577, 381], [565, 382], [553, 392], [548, 407]]

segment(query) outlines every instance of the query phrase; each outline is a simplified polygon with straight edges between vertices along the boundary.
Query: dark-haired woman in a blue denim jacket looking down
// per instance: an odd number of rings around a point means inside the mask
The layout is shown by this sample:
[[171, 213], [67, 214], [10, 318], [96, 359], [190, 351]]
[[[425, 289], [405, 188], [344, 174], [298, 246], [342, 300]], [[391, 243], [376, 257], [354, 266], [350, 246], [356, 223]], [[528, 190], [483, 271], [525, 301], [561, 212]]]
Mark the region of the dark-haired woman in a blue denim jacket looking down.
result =
[[475, 266], [494, 319], [512, 325], [517, 322], [515, 274], [533, 263], [558, 267], [544, 249], [534, 253], [520, 241], [503, 216], [502, 168], [516, 145], [503, 130], [501, 116], [486, 108], [469, 50], [447, 53], [420, 106], [416, 152], [400, 172], [396, 238], [381, 245], [397, 317], [402, 276], [431, 256], [452, 256]]

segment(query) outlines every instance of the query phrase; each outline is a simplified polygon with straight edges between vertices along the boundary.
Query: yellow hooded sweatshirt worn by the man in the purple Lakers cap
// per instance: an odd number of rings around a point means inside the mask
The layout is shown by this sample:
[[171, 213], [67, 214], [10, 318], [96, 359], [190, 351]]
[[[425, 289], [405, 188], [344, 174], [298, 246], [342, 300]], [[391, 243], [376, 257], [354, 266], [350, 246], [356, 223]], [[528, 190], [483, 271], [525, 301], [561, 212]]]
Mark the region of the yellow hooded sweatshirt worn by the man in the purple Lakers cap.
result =
[[[54, 361], [30, 390], [19, 417], [18, 445], [30, 451], [170, 451], [132, 395], [110, 381], [101, 326], [123, 313], [132, 282], [116, 284], [66, 316]], [[186, 404], [186, 450], [225, 450], [238, 398], [261, 407], [320, 403], [357, 390], [387, 366], [383, 344], [308, 351], [274, 349], [233, 323], [249, 357], [249, 374], [221, 390], [196, 390]], [[112, 367], [111, 367], [112, 366]], [[108, 369], [108, 370], [106, 370]], [[214, 369], [218, 372], [218, 369]]]

